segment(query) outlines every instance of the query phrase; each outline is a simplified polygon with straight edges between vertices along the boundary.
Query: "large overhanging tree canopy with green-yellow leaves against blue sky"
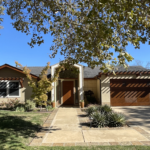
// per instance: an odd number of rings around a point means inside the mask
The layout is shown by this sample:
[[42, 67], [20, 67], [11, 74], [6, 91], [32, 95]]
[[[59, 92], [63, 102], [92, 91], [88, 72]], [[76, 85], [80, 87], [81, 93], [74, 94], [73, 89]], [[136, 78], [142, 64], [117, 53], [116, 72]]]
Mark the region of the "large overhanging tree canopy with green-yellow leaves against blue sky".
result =
[[[41, 33], [54, 37], [51, 57], [60, 52], [71, 64], [83, 62], [103, 71], [106, 63], [121, 64], [133, 58], [126, 51], [150, 41], [149, 0], [4, 0], [16, 30], [32, 34], [29, 45], [44, 43]], [[114, 49], [118, 52], [113, 57]]]

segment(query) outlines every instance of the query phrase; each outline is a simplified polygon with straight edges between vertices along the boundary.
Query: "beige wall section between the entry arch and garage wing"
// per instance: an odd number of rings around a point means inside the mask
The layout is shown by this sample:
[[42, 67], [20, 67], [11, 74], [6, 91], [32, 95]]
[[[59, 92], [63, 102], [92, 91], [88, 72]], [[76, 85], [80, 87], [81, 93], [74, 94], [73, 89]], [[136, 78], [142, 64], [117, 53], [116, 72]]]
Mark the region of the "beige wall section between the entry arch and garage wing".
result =
[[96, 79], [84, 79], [84, 91], [88, 91], [88, 90], [91, 90], [93, 91], [94, 96], [97, 100], [98, 100], [98, 81]]

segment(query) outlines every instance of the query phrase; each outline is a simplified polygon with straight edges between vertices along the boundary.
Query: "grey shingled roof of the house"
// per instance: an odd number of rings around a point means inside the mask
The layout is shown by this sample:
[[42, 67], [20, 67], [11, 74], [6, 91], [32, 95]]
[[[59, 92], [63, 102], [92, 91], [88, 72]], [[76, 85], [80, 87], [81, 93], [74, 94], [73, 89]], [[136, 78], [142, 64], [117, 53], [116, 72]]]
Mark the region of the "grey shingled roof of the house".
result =
[[[5, 64], [7, 66], [10, 66], [8, 64]], [[1, 69], [2, 66], [0, 66]], [[10, 66], [13, 67], [13, 66]], [[20, 67], [13, 67], [16, 69], [19, 69], [20, 71], [22, 71], [22, 68]], [[28, 67], [31, 70], [31, 75], [38, 77], [42, 71], [42, 69], [44, 67]], [[100, 66], [95, 67], [94, 69], [91, 69], [90, 67], [84, 66], [84, 78], [94, 78], [99, 74], [104, 74], [101, 70], [100, 70]], [[149, 69], [146, 69], [142, 66], [129, 66], [128, 70], [126, 71], [126, 69], [122, 66], [118, 66], [118, 70], [116, 71], [116, 73], [121, 73], [121, 72], [143, 72], [143, 71], [150, 71]], [[111, 72], [110, 72], [111, 73]], [[148, 72], [147, 72], [148, 73]], [[48, 69], [48, 77], [51, 76], [51, 69]]]

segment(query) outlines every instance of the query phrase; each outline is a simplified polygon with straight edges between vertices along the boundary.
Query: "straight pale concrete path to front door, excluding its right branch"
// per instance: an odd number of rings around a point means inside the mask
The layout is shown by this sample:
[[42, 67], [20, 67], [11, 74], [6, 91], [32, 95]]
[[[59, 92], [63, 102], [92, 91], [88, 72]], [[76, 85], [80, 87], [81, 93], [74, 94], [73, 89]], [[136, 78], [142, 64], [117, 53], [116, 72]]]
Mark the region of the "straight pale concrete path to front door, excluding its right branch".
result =
[[82, 128], [75, 108], [59, 108], [43, 143], [84, 142]]

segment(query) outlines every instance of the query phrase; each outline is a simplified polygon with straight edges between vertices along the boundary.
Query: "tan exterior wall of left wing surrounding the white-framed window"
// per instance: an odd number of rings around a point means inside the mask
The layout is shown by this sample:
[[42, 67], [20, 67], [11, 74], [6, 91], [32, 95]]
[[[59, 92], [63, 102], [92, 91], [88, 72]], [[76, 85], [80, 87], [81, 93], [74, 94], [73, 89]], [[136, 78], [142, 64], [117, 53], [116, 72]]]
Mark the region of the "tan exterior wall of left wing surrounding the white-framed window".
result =
[[[21, 94], [20, 94], [20, 97], [17, 97], [17, 99], [23, 103], [23, 102], [25, 102], [25, 100], [31, 98], [32, 89], [28, 86], [28, 79], [26, 78], [26, 75], [19, 73], [15, 70], [9, 69], [9, 68], [3, 68], [0, 70], [0, 77], [22, 77], [22, 78], [24, 78], [24, 82], [23, 82], [24, 87], [20, 89]], [[15, 99], [15, 97], [13, 97], [13, 98], [0, 97], [0, 103], [7, 102], [8, 99]]]

